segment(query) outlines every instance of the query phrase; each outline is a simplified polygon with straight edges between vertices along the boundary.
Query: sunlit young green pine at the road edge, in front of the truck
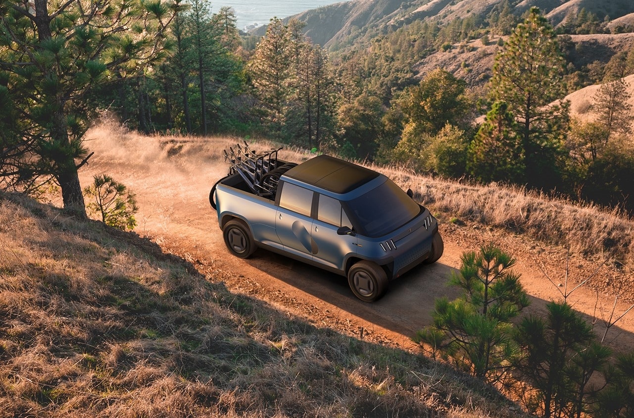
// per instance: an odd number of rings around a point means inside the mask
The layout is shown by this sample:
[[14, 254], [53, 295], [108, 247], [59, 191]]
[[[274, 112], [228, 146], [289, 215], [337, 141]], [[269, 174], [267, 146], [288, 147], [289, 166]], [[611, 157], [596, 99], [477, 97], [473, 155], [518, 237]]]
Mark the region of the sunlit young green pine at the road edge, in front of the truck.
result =
[[515, 259], [495, 245], [465, 252], [461, 260], [450, 284], [463, 295], [436, 299], [434, 324], [418, 331], [414, 341], [448, 354], [475, 377], [495, 381], [514, 357], [512, 320], [528, 306], [528, 297], [511, 270]]

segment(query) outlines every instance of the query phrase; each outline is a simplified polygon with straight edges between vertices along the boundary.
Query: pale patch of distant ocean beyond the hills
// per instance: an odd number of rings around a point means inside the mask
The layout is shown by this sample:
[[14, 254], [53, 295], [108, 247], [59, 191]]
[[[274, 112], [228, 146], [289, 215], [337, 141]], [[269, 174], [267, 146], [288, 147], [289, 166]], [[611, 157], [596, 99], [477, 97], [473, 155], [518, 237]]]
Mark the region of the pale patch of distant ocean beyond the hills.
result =
[[238, 29], [248, 30], [268, 24], [273, 17], [283, 19], [340, 1], [343, 0], [216, 0], [211, 11], [216, 13], [221, 7], [232, 7], [238, 19]]

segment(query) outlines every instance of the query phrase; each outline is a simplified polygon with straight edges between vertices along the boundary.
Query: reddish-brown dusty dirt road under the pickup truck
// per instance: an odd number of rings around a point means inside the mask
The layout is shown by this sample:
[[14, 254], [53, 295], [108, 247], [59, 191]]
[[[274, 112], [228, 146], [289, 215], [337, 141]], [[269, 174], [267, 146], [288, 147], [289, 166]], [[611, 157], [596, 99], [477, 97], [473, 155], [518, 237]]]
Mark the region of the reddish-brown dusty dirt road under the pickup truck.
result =
[[[455, 289], [446, 286], [451, 269], [460, 265], [463, 251], [477, 250], [486, 242], [496, 242], [517, 258], [515, 270], [522, 274], [522, 284], [531, 296], [527, 308], [531, 312], [543, 310], [547, 301], [560, 299], [561, 292], [571, 291], [573, 283], [597, 268], [596, 263], [571, 260], [566, 286], [563, 249], [478, 225], [443, 222], [441, 218], [443, 257], [392, 282], [379, 301], [363, 303], [353, 296], [344, 277], [263, 250], [247, 260], [231, 256], [208, 200], [210, 187], [228, 169], [220, 152], [232, 143], [230, 140], [165, 141], [105, 129], [93, 129], [89, 137], [92, 140], [87, 145], [95, 155], [81, 170], [82, 186], [91, 183], [95, 174], [109, 174], [131, 188], [138, 200], [135, 230], [139, 235], [151, 237], [165, 251], [188, 259], [209, 280], [222, 280], [233, 292], [252, 295], [288, 315], [369, 341], [418, 349], [410, 337], [430, 323], [434, 299], [457, 296]], [[545, 277], [538, 266], [541, 263], [555, 284]], [[603, 274], [607, 275], [605, 280], [618, 280], [608, 271]], [[595, 290], [581, 287], [568, 301], [588, 318], [600, 319], [609, 315], [614, 297], [599, 292], [597, 299]], [[615, 314], [621, 315], [629, 306], [619, 301]], [[597, 330], [602, 334], [600, 320]], [[618, 348], [634, 346], [634, 311], [610, 330], [608, 339], [614, 340]]]

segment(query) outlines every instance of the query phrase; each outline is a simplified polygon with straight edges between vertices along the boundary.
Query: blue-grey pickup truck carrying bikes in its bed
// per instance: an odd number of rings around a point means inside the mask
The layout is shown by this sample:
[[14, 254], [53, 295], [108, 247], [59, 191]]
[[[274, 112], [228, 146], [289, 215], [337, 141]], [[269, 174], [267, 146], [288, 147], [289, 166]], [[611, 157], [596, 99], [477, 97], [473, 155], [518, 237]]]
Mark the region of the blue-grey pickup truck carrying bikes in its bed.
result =
[[231, 168], [209, 194], [233, 255], [278, 252], [347, 277], [367, 302], [442, 256], [436, 218], [387, 176], [328, 155], [295, 164], [276, 158], [281, 148], [240, 148], [225, 150]]

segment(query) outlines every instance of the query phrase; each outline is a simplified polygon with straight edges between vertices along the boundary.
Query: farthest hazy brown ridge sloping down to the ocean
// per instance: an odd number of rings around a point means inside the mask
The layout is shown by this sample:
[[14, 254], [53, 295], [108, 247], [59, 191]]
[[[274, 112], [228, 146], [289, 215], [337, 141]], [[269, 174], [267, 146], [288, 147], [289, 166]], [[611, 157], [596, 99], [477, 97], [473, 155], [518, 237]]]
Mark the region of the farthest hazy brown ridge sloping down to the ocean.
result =
[[[328, 49], [339, 49], [358, 39], [372, 39], [377, 34], [394, 31], [417, 20], [434, 20], [440, 25], [456, 24], [456, 21], [461, 25], [464, 21], [467, 25], [486, 24], [497, 20], [505, 9], [503, 18], [508, 13], [521, 15], [533, 6], [540, 8], [558, 29], [570, 30], [576, 26], [575, 31], [581, 29], [587, 33], [596, 31], [603, 24], [611, 32], [618, 33], [630, 31], [634, 23], [634, 4], [628, 0], [352, 0], [308, 10], [293, 18], [306, 22], [304, 33], [313, 42]], [[583, 23], [578, 24], [579, 18]], [[252, 30], [257, 36], [263, 36], [265, 32], [266, 27]]]

